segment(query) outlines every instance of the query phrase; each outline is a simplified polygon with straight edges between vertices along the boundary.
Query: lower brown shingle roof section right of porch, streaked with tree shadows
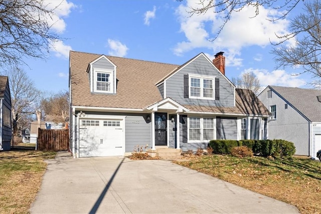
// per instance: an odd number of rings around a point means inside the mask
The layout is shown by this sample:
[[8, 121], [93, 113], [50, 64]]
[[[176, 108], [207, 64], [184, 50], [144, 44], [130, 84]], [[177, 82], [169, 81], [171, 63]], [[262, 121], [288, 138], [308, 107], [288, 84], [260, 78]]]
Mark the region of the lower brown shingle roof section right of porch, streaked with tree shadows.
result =
[[235, 107], [184, 105], [190, 111], [222, 114], [269, 116], [270, 112], [257, 96], [247, 89], [235, 89]]

